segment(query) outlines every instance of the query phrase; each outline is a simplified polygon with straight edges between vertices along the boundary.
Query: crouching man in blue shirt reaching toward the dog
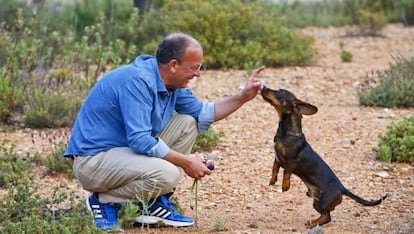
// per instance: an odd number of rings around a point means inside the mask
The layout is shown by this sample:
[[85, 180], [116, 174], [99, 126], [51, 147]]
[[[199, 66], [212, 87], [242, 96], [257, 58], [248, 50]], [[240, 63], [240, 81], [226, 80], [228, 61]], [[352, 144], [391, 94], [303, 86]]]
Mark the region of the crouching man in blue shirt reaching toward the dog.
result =
[[256, 75], [264, 69], [254, 71], [238, 94], [202, 102], [187, 88], [201, 75], [202, 60], [196, 39], [172, 33], [156, 57], [141, 55], [109, 72], [86, 98], [64, 156], [73, 159], [75, 176], [92, 192], [86, 204], [98, 227], [121, 228], [117, 212], [131, 201], [140, 204], [139, 223], [194, 223], [169, 197], [182, 171], [197, 180], [211, 173], [201, 158], [189, 156], [195, 139], [260, 93]]

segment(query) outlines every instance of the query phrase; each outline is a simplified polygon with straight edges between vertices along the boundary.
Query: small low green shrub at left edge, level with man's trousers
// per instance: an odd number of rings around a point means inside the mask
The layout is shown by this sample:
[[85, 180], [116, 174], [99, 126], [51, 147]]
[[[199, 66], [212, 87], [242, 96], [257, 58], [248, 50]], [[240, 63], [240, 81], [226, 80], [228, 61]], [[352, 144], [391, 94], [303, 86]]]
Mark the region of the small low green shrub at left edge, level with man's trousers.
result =
[[0, 147], [0, 187], [27, 180], [34, 163], [29, 160], [29, 157], [23, 157], [15, 152], [15, 145], [7, 146], [4, 141]]

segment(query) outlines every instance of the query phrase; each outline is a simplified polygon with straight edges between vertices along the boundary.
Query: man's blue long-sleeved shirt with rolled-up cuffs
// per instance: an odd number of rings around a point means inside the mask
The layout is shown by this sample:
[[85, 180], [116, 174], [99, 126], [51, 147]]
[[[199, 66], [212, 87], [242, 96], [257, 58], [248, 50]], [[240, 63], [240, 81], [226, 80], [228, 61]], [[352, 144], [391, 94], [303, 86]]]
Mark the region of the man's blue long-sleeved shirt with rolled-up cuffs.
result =
[[214, 121], [214, 103], [202, 102], [190, 89], [167, 89], [157, 60], [138, 56], [119, 67], [92, 88], [72, 129], [69, 155], [95, 155], [114, 147], [130, 147], [135, 153], [164, 157], [169, 147], [158, 134], [174, 111], [193, 116], [199, 132]]

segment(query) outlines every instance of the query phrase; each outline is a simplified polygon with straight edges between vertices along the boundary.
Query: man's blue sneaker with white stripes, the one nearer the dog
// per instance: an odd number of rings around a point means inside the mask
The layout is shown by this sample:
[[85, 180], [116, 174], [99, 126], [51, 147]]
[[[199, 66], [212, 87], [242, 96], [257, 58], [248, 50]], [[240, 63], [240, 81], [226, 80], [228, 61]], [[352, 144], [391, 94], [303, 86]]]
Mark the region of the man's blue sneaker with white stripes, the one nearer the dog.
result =
[[168, 200], [167, 196], [160, 196], [150, 203], [150, 207], [141, 209], [141, 215], [135, 218], [135, 222], [141, 224], [163, 223], [174, 227], [186, 227], [194, 224], [194, 220], [178, 213], [176, 204]]

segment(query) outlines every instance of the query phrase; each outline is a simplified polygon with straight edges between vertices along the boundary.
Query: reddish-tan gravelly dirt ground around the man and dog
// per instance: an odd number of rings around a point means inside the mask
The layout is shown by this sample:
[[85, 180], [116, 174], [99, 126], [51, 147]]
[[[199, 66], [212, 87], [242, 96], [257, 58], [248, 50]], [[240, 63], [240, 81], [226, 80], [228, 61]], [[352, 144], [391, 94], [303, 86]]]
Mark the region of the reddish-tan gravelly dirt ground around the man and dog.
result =
[[[384, 29], [384, 37], [377, 38], [344, 37], [346, 31], [305, 29], [303, 32], [316, 40], [316, 64], [267, 69], [261, 77], [269, 87], [289, 89], [319, 107], [316, 115], [304, 117], [304, 132], [345, 186], [368, 200], [390, 195], [376, 207], [363, 207], [344, 198], [332, 212], [332, 222], [324, 226], [325, 233], [413, 233], [414, 168], [383, 164], [375, 159], [372, 148], [388, 124], [413, 115], [414, 110], [360, 107], [356, 87], [372, 71], [388, 68], [393, 57], [414, 56], [414, 28], [390, 25]], [[341, 62], [339, 41], [353, 54], [352, 63]], [[240, 90], [247, 77], [245, 71], [205, 71], [191, 86], [200, 98], [217, 100]], [[213, 126], [224, 132], [225, 138], [213, 152], [218, 154], [216, 170], [199, 186], [198, 227], [135, 228], [126, 232], [208, 233], [221, 227], [222, 233], [307, 233], [304, 223], [317, 213], [305, 195], [303, 183], [293, 177], [291, 189], [283, 193], [280, 181], [275, 186], [268, 185], [277, 120], [274, 109], [257, 97]], [[65, 139], [68, 131], [33, 134], [32, 130], [19, 130], [0, 132], [0, 137], [17, 139], [20, 151], [45, 152], [51, 142]], [[189, 216], [194, 214], [189, 208], [194, 202], [192, 182], [185, 177], [176, 193]], [[78, 191], [80, 198], [87, 195], [76, 180], [46, 176], [40, 183], [60, 184], [64, 189]]]

